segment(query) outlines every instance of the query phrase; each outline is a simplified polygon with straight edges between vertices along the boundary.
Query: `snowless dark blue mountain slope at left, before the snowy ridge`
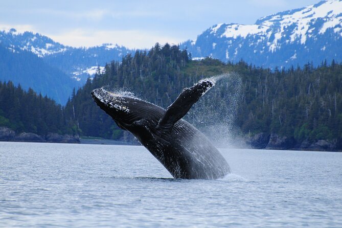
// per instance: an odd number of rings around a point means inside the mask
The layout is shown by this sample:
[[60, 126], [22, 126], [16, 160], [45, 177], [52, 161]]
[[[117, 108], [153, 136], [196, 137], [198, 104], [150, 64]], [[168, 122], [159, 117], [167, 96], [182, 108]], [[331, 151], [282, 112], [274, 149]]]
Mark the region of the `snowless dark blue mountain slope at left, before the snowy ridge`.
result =
[[69, 76], [32, 52], [16, 52], [0, 45], [0, 57], [0, 81], [11, 80], [26, 90], [31, 87], [60, 104], [66, 103], [76, 87], [75, 81]]

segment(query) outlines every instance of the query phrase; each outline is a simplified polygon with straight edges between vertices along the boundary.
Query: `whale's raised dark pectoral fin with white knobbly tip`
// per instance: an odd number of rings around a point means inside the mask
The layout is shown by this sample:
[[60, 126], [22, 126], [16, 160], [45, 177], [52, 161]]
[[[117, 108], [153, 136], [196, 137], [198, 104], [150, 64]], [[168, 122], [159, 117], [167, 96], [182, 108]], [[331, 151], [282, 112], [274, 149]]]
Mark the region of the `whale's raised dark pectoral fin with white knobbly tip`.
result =
[[203, 79], [190, 88], [184, 88], [177, 99], [166, 109], [165, 115], [159, 120], [156, 130], [163, 136], [169, 135], [173, 125], [186, 115], [192, 105], [215, 85], [211, 79]]

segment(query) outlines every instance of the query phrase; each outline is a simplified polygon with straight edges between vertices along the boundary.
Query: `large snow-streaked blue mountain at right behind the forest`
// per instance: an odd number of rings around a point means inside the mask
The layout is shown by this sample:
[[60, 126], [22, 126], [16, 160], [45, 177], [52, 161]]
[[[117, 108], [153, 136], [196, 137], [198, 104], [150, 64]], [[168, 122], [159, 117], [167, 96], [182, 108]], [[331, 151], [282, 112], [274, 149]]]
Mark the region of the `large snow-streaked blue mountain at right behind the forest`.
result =
[[254, 25], [218, 24], [180, 44], [193, 58], [243, 59], [257, 66], [303, 66], [342, 61], [342, 1], [322, 1], [258, 19]]

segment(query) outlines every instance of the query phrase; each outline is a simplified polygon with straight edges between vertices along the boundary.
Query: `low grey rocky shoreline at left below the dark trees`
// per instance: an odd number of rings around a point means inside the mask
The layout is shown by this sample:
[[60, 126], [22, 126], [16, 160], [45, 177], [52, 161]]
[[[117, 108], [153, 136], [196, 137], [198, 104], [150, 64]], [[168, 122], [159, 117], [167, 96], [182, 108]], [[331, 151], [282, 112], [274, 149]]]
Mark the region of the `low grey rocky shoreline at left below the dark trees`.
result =
[[0, 141], [10, 142], [39, 142], [39, 143], [80, 143], [78, 135], [48, 133], [38, 135], [31, 132], [16, 134], [14, 130], [7, 127], [0, 127]]

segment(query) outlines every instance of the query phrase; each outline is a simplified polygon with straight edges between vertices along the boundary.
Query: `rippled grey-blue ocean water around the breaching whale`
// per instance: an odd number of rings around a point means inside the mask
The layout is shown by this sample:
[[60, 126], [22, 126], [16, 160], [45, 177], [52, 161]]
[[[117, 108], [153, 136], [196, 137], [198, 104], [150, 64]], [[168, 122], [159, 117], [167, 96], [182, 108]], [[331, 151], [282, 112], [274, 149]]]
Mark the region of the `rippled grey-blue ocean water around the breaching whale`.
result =
[[173, 179], [141, 146], [0, 142], [0, 227], [342, 227], [342, 153], [219, 149]]

